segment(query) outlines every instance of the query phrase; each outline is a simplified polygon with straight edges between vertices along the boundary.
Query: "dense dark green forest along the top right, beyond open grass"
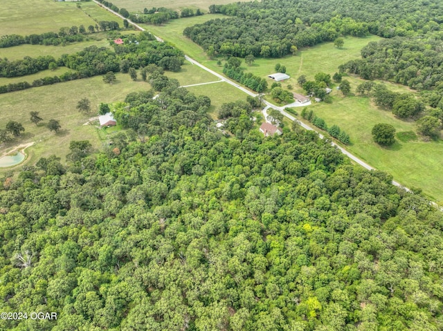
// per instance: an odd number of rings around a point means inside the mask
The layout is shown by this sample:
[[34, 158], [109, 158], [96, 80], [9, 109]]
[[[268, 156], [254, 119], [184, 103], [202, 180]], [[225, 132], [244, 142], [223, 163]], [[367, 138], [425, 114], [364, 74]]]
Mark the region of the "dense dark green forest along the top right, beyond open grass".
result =
[[230, 19], [214, 19], [183, 33], [210, 55], [282, 57], [339, 35], [443, 38], [441, 1], [271, 0], [210, 6]]

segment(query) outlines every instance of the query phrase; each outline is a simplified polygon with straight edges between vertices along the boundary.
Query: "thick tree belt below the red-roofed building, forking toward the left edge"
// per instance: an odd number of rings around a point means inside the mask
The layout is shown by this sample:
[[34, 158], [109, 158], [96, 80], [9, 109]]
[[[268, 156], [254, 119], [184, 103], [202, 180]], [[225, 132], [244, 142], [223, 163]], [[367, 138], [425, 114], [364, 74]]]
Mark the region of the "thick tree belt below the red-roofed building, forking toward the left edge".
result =
[[51, 64], [54, 64], [55, 67], [66, 66], [74, 71], [68, 71], [60, 76], [35, 79], [32, 83], [19, 82], [3, 85], [0, 86], [0, 93], [104, 75], [108, 72], [127, 73], [129, 68], [143, 68], [148, 64], [159, 64], [164, 70], [179, 71], [184, 62], [181, 50], [177, 50], [167, 43], [153, 41], [152, 38], [148, 32], [142, 33], [138, 37], [129, 35], [123, 37], [125, 44], [115, 45], [114, 50], [90, 46], [75, 54], [62, 55], [57, 60], [51, 56], [37, 57], [37, 59], [26, 57], [14, 62], [2, 59], [0, 60], [1, 77], [30, 75], [39, 70], [51, 68]]

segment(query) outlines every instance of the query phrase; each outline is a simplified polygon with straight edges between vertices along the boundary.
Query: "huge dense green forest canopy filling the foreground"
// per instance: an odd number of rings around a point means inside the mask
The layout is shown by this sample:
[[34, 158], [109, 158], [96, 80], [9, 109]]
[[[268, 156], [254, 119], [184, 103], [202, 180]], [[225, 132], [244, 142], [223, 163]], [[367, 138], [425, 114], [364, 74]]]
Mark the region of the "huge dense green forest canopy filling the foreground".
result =
[[1, 310], [58, 318], [2, 328], [443, 327], [442, 213], [313, 132], [225, 138], [161, 77], [102, 153], [3, 178]]

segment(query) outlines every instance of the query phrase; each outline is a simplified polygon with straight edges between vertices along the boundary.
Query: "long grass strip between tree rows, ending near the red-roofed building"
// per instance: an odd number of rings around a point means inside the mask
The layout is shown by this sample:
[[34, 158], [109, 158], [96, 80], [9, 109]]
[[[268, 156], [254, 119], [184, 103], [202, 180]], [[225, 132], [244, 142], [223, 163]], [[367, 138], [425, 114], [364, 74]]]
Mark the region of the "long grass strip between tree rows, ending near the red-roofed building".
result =
[[84, 50], [89, 46], [109, 47], [109, 41], [102, 40], [88, 40], [80, 43], [69, 44], [66, 46], [44, 46], [44, 45], [29, 45], [23, 44], [14, 47], [1, 48], [1, 57], [6, 57], [13, 61], [16, 59], [23, 59], [24, 57], [39, 57], [51, 55], [58, 59], [63, 54], [73, 54]]

